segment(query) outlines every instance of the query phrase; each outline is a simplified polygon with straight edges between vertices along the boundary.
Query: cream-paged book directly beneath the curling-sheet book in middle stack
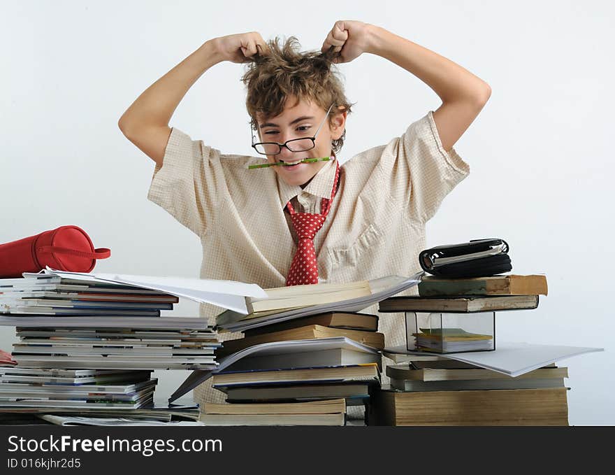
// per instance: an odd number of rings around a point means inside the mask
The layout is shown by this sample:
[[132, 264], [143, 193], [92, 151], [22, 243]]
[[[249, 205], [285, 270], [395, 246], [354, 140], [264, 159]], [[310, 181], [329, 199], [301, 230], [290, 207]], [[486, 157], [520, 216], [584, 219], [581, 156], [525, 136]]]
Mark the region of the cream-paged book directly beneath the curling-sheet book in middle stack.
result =
[[273, 371], [231, 371], [215, 374], [212, 387], [252, 384], [331, 383], [347, 381], [380, 381], [378, 365], [282, 369]]

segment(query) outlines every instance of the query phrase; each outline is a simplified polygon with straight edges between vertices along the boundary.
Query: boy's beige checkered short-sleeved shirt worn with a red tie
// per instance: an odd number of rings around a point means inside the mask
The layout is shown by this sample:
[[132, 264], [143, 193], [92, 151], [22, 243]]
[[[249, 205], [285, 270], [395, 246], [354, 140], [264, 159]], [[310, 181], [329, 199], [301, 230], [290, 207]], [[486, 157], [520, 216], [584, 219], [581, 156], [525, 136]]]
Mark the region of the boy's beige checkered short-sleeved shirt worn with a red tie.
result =
[[[272, 168], [248, 170], [262, 157], [222, 155], [173, 128], [163, 166], [157, 166], [148, 198], [200, 237], [201, 278], [282, 287], [296, 251], [289, 213], [319, 213], [331, 197], [335, 162], [328, 162], [302, 190], [278, 178]], [[431, 111], [400, 137], [343, 162], [338, 192], [314, 238], [319, 281], [350, 282], [420, 270], [425, 223], [442, 199], [468, 175], [454, 149], [447, 153]], [[412, 295], [414, 288], [400, 295]], [[201, 316], [223, 309], [203, 304]], [[377, 304], [365, 309], [377, 313]], [[213, 320], [211, 320], [213, 322]], [[380, 314], [386, 346], [405, 344], [402, 313]], [[223, 339], [239, 334], [221, 334]], [[222, 400], [207, 388], [196, 399]]]

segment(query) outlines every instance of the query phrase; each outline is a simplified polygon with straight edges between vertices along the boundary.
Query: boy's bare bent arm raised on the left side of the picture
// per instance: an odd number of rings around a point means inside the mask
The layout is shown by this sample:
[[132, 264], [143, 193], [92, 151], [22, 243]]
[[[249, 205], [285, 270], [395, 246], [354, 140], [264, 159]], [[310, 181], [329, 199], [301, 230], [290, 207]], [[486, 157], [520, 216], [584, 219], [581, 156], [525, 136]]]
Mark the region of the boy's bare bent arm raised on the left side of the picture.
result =
[[213, 38], [145, 90], [124, 112], [118, 126], [124, 136], [162, 166], [171, 135], [168, 123], [190, 87], [210, 67], [222, 61], [242, 63], [267, 49], [256, 32]]

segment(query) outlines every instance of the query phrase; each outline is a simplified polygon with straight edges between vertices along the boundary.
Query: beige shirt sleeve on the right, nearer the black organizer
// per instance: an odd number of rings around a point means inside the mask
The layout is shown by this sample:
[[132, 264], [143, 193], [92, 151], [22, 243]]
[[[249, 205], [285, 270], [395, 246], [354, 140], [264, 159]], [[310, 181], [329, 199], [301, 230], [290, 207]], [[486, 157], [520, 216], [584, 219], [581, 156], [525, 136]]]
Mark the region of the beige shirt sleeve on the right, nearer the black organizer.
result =
[[[454, 148], [444, 150], [431, 111], [389, 146], [392, 197], [421, 222], [430, 220], [444, 197], [470, 173]], [[386, 157], [384, 162], [386, 166]]]

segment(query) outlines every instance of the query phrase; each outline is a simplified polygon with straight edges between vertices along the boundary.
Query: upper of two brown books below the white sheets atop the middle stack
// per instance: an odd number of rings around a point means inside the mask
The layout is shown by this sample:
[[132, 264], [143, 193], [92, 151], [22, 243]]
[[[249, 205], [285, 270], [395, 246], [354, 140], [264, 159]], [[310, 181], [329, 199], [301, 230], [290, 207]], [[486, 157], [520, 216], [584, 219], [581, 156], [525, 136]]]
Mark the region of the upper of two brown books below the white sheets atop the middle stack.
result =
[[322, 325], [323, 327], [344, 328], [352, 330], [367, 330], [376, 332], [378, 329], [378, 316], [371, 313], [359, 312], [327, 312], [318, 313], [309, 317], [295, 318], [285, 322], [273, 323], [266, 327], [248, 329], [243, 332], [245, 336], [260, 335], [263, 333], [280, 332], [281, 330], [305, 327], [307, 325]]

